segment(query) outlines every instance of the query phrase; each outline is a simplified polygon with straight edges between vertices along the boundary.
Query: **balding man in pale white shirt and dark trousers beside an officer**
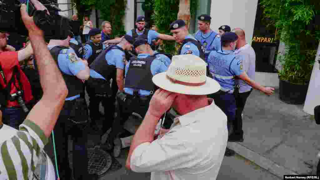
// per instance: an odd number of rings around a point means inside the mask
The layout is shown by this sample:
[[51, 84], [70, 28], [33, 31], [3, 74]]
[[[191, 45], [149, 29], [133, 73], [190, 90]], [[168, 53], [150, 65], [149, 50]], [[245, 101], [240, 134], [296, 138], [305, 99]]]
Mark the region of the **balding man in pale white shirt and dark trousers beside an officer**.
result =
[[[245, 73], [248, 77], [254, 80], [256, 70], [256, 53], [251, 45], [245, 41], [245, 33], [243, 29], [236, 28], [232, 32], [238, 35], [238, 41], [236, 44], [236, 57], [242, 60]], [[229, 136], [229, 142], [243, 142], [243, 130], [242, 130], [242, 111], [244, 109], [245, 102], [252, 92], [252, 87], [245, 83], [241, 79], [236, 79], [236, 85], [240, 85], [239, 94], [236, 97], [236, 120], [233, 125], [233, 133]]]

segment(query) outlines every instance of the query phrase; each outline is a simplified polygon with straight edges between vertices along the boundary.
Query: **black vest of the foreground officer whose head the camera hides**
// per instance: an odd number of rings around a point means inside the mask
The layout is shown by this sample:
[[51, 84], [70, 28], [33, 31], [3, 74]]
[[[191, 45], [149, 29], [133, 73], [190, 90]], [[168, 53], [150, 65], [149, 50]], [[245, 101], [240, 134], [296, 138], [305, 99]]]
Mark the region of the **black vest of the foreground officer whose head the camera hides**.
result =
[[[60, 51], [62, 49], [68, 49], [68, 47], [66, 47], [66, 46], [54, 46], [50, 50], [50, 53], [51, 53], [54, 61], [57, 63], [58, 67], [59, 67], [58, 55], [60, 54]], [[64, 81], [66, 82], [66, 85], [67, 85], [67, 88], [68, 88], [68, 96], [67, 96], [67, 98], [83, 93], [83, 82], [79, 78], [77, 78], [76, 76], [71, 76], [71, 75], [65, 74], [63, 71], [61, 71], [61, 74], [62, 74], [62, 77], [63, 77]]]

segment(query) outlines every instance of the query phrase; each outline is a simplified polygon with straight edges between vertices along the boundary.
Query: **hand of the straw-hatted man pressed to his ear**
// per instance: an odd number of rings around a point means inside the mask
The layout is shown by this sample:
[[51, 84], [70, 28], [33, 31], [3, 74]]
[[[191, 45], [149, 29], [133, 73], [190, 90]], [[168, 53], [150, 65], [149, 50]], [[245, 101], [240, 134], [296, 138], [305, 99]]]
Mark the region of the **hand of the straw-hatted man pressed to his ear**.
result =
[[150, 100], [149, 113], [160, 119], [160, 117], [169, 110], [177, 95], [177, 93], [172, 93], [161, 88], [156, 90]]

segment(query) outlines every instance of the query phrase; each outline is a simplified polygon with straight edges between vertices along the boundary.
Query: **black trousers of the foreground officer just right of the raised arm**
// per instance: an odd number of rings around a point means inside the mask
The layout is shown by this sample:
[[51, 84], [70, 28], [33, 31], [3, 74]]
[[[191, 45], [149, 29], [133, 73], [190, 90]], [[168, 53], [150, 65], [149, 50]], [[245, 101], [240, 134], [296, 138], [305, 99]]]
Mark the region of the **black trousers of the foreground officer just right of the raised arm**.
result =
[[69, 108], [65, 108], [68, 103], [68, 101], [65, 102], [65, 105], [62, 108], [57, 123], [54, 127], [59, 175], [60, 179], [71, 179], [72, 177], [68, 156], [68, 135], [71, 135], [71, 139], [73, 140], [72, 166], [74, 177], [76, 180], [86, 180], [88, 179], [88, 136], [87, 132], [85, 131], [75, 132], [70, 131], [68, 128], [68, 118], [70, 117], [71, 113]]

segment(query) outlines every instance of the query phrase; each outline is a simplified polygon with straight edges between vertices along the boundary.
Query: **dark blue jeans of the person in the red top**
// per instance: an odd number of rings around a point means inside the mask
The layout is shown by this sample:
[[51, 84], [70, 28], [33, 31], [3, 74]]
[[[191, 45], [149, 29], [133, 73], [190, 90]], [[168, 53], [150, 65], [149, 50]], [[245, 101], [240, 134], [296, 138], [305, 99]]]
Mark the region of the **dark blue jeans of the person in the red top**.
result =
[[2, 109], [2, 121], [4, 124], [19, 129], [19, 125], [26, 119], [28, 113], [22, 108], [4, 108]]

